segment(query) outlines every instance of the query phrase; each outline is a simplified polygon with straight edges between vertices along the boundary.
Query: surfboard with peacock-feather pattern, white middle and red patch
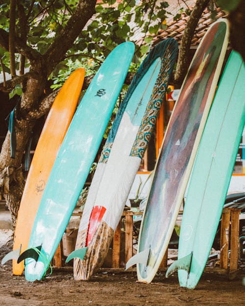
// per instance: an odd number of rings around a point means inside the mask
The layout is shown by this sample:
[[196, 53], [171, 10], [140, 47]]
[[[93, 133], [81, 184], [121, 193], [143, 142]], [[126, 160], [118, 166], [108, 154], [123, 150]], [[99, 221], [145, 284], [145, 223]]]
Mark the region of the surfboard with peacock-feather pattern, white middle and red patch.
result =
[[76, 250], [68, 258], [80, 257], [74, 259], [75, 280], [88, 280], [105, 259], [156, 124], [176, 55], [173, 39], [154, 47], [120, 106], [89, 190]]

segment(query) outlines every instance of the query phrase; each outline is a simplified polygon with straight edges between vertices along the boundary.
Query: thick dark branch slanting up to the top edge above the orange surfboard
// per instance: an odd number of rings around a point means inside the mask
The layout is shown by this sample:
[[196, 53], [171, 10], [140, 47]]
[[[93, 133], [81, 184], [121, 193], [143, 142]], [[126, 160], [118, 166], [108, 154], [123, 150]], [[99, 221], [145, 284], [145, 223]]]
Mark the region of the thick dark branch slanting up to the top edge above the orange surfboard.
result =
[[[74, 40], [77, 38], [85, 24], [95, 13], [96, 0], [79, 0], [77, 7], [61, 32], [55, 37], [48, 48], [45, 57], [48, 67], [48, 75], [57, 63], [61, 62]], [[66, 42], [64, 44], [64, 42]]]

